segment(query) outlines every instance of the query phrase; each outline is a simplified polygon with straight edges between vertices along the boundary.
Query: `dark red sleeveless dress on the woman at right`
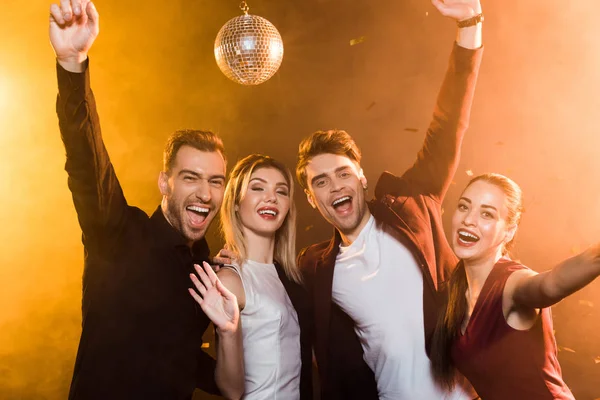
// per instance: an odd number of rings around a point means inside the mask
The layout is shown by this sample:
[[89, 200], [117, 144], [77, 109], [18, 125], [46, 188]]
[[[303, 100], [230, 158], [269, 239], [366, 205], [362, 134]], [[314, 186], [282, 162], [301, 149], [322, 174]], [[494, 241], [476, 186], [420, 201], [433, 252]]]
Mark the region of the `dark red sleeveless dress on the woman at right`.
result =
[[487, 277], [464, 334], [452, 346], [456, 368], [483, 400], [574, 399], [561, 376], [549, 308], [528, 330], [516, 330], [502, 312], [506, 280], [527, 267], [500, 259]]

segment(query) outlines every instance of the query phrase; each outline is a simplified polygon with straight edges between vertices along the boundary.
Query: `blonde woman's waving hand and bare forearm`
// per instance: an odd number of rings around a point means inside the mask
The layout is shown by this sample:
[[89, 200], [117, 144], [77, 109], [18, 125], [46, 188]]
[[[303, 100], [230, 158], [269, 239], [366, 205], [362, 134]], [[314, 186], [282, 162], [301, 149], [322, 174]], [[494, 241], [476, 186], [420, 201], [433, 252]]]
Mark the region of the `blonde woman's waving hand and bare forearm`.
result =
[[210, 265], [196, 265], [196, 275], [190, 275], [198, 293], [190, 289], [192, 297], [213, 322], [217, 330], [217, 366], [215, 381], [223, 396], [239, 399], [244, 393], [244, 352], [240, 310], [236, 296], [219, 280]]

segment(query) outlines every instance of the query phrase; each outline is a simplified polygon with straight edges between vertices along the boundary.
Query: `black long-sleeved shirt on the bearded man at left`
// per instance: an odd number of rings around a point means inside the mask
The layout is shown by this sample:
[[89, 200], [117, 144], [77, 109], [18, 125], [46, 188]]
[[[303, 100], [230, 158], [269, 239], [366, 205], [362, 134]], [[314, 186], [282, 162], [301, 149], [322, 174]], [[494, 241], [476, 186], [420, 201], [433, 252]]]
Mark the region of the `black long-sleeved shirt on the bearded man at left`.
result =
[[70, 399], [190, 399], [216, 392], [201, 350], [209, 319], [189, 295], [190, 249], [164, 218], [129, 206], [104, 147], [89, 72], [57, 66], [57, 113], [83, 232], [82, 333]]

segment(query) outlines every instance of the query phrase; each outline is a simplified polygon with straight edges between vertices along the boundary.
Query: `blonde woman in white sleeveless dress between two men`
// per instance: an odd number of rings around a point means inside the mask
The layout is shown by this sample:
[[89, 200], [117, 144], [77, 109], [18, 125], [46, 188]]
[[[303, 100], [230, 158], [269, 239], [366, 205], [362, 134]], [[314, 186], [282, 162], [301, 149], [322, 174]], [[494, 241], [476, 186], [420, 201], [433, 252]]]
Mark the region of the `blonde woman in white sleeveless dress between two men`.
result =
[[235, 165], [225, 189], [222, 232], [237, 258], [218, 276], [241, 309], [245, 399], [312, 398], [293, 196], [290, 171], [259, 154]]

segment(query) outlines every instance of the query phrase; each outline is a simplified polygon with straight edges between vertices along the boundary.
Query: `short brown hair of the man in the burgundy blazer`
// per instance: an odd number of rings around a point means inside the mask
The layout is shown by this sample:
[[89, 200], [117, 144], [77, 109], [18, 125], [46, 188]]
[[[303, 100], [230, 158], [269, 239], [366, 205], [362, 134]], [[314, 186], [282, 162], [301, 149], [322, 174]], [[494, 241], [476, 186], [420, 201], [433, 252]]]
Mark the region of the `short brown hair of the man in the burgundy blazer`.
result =
[[309, 161], [319, 154], [337, 154], [346, 156], [360, 164], [360, 149], [348, 132], [340, 129], [316, 131], [302, 140], [298, 147], [298, 163], [296, 164], [296, 178], [304, 189], [308, 189], [306, 181], [306, 166]]

